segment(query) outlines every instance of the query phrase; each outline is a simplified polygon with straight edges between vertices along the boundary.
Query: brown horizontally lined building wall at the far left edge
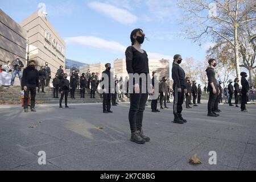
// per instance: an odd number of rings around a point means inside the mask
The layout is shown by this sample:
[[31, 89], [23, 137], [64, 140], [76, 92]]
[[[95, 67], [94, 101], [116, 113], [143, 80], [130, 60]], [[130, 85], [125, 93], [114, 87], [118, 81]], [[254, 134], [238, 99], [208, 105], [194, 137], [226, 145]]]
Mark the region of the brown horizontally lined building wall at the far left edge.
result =
[[0, 9], [0, 64], [19, 57], [26, 67], [26, 42], [26, 31]]

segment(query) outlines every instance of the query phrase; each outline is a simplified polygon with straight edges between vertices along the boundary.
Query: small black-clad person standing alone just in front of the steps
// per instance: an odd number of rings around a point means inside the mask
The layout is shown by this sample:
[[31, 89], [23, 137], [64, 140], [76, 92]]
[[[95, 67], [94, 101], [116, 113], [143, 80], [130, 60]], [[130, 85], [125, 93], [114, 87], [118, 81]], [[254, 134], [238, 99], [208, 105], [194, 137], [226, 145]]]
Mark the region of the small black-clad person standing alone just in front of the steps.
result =
[[64, 73], [64, 78], [60, 80], [60, 108], [62, 108], [62, 100], [65, 96], [65, 108], [69, 108], [68, 106], [68, 92], [69, 92], [69, 81], [67, 79], [68, 74]]

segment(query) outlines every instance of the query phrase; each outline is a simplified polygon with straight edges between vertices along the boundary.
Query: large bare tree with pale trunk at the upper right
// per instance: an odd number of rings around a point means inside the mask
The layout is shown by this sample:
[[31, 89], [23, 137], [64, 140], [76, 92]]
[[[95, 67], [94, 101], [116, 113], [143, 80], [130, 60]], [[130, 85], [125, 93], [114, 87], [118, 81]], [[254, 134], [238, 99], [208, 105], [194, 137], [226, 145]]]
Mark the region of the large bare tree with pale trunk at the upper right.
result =
[[187, 25], [185, 33], [189, 39], [196, 42], [219, 37], [232, 46], [240, 78], [238, 30], [255, 22], [255, 0], [177, 0], [177, 5], [185, 10], [183, 24]]

